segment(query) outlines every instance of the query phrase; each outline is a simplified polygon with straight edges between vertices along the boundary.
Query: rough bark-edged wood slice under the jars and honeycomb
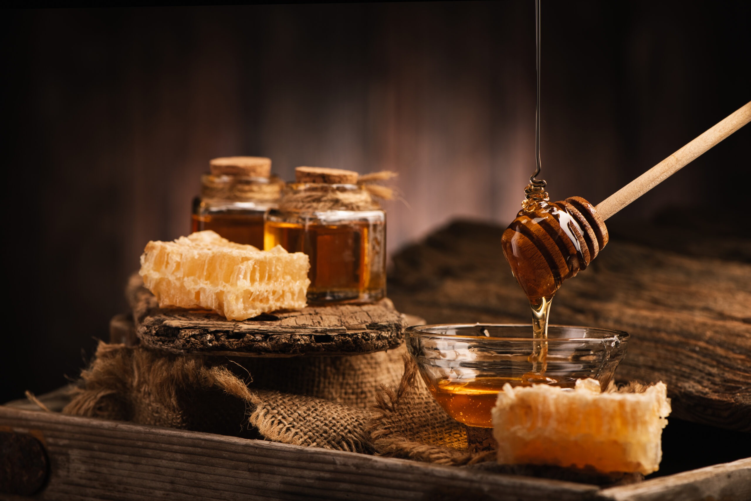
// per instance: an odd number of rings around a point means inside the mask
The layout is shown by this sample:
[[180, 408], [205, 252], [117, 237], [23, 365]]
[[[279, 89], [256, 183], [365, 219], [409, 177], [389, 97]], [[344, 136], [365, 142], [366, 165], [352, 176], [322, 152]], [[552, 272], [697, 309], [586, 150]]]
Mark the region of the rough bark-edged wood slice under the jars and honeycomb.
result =
[[126, 296], [140, 343], [178, 354], [294, 357], [383, 352], [403, 343], [408, 323], [388, 298], [232, 321], [204, 310], [161, 309], [137, 275], [131, 276]]

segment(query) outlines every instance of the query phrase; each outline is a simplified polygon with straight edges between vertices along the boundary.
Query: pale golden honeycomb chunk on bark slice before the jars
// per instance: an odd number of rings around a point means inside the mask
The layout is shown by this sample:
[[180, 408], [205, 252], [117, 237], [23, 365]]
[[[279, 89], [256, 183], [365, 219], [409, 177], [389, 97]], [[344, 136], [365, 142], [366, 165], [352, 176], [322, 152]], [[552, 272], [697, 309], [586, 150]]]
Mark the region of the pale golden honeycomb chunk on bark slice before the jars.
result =
[[213, 231], [149, 242], [140, 263], [143, 284], [160, 307], [213, 309], [229, 320], [303, 308], [310, 284], [302, 252], [261, 251]]

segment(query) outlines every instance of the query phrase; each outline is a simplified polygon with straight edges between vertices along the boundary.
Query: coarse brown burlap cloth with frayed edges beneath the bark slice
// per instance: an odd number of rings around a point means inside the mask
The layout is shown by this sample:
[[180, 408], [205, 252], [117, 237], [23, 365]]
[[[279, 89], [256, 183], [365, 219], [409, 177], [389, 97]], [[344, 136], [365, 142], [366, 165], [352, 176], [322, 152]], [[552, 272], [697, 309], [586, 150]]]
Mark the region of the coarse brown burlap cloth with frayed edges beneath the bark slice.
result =
[[100, 342], [63, 412], [445, 464], [466, 433], [405, 346], [311, 358], [170, 355]]

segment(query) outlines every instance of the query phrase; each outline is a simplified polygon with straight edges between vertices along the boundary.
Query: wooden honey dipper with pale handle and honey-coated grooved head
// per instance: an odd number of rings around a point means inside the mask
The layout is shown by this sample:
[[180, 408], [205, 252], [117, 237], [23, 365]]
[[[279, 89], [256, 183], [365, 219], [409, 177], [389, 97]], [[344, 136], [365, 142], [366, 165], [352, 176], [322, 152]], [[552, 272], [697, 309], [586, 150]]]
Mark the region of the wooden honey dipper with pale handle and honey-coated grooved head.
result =
[[[590, 264], [608, 243], [605, 219], [675, 174], [751, 121], [751, 102], [623, 186], [596, 207], [581, 197], [550, 202], [544, 186], [527, 186], [517, 218], [503, 232], [503, 253], [532, 302], [549, 301], [561, 283]], [[544, 183], [544, 182], [543, 182]]]

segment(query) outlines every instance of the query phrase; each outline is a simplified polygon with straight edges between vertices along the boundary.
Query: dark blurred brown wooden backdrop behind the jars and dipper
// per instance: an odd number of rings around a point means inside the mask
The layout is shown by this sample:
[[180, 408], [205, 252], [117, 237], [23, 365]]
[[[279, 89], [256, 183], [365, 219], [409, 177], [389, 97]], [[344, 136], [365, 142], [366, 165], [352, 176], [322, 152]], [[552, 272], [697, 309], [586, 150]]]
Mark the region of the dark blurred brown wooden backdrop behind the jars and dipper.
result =
[[[542, 5], [542, 177], [602, 201], [751, 99], [748, 2]], [[505, 224], [534, 167], [534, 4], [2, 11], [0, 401], [76, 376], [207, 161], [391, 169], [389, 249]], [[748, 219], [746, 128], [614, 217]], [[719, 207], [719, 209], [718, 209]]]

